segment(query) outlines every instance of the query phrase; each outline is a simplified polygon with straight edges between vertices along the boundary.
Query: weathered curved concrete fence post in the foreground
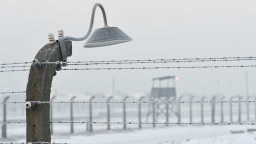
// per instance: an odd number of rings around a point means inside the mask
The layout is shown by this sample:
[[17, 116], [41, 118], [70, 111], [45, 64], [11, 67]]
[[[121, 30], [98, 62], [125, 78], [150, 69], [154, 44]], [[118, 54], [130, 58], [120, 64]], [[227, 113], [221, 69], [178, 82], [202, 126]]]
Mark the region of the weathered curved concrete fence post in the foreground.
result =
[[[72, 43], [64, 41], [67, 56], [72, 54]], [[59, 44], [45, 44], [36, 54], [40, 62], [61, 61], [62, 55]], [[26, 85], [26, 101], [49, 101], [53, 74], [57, 64], [42, 64], [36, 70], [30, 67]], [[33, 109], [26, 109], [26, 142], [50, 142], [49, 103], [36, 104]]]

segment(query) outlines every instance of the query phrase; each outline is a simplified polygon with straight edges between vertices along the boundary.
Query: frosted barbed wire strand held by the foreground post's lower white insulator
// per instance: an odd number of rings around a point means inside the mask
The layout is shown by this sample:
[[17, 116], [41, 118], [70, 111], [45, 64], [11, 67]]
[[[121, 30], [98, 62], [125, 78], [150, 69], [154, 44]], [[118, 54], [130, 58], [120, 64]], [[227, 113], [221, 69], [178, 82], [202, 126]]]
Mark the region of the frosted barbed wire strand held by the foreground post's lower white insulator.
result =
[[[42, 103], [237, 103], [237, 102], [256, 102], [256, 100], [221, 100], [221, 101], [159, 101], [159, 100], [155, 100], [155, 101], [30, 101], [30, 102], [34, 102], [34, 103], [38, 103], [38, 104], [42, 104]], [[6, 103], [25, 103], [24, 101], [14, 101], [14, 102], [0, 102], [0, 104], [6, 104]]]

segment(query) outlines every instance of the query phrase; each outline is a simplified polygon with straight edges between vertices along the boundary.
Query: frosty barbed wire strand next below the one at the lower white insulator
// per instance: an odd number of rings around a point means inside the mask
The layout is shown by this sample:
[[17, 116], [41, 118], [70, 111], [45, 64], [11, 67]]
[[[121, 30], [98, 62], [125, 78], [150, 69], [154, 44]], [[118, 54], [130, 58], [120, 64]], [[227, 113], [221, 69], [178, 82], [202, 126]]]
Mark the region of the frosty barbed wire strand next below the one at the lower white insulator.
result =
[[[109, 122], [109, 121], [103, 121], [103, 122], [96, 122], [96, 121], [49, 121], [50, 123], [80, 123], [80, 124], [171, 124], [171, 125], [256, 125], [255, 122]], [[10, 124], [10, 123], [26, 123], [25, 121], [6, 121], [6, 122], [0, 122], [0, 124]]]

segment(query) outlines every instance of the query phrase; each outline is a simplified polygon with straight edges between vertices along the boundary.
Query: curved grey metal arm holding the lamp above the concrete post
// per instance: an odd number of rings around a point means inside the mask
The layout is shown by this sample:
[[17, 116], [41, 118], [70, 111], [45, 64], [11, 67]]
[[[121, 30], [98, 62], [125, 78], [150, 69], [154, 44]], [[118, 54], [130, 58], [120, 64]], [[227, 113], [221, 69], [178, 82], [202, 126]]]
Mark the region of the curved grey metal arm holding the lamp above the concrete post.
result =
[[102, 11], [102, 15], [103, 15], [103, 19], [104, 19], [104, 26], [107, 26], [106, 13], [105, 13], [104, 7], [100, 3], [95, 3], [93, 8], [92, 8], [92, 12], [91, 12], [89, 29], [88, 29], [87, 33], [83, 37], [64, 36], [64, 37], [61, 37], [58, 40], [56, 40], [57, 42], [59, 42], [59, 45], [60, 45], [61, 54], [62, 54], [62, 61], [64, 61], [66, 59], [64, 40], [68, 39], [68, 40], [73, 40], [73, 41], [81, 41], [81, 40], [85, 40], [90, 35], [90, 32], [91, 32], [92, 27], [93, 27], [94, 15], [95, 15], [95, 10], [96, 10], [97, 6]]

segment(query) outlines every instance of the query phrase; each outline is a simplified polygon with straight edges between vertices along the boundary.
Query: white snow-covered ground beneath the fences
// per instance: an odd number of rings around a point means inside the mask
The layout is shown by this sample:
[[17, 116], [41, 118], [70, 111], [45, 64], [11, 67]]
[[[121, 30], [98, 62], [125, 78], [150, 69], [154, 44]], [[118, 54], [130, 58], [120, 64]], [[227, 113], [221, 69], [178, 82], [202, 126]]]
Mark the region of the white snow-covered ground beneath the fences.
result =
[[[0, 138], [0, 142], [25, 142], [24, 126], [12, 125], [8, 129], [8, 138]], [[69, 130], [67, 124], [55, 124], [54, 127], [56, 130], [51, 141], [60, 143], [256, 143], [256, 131], [247, 131], [256, 129], [255, 125], [170, 125], [109, 131], [95, 129], [93, 132], [84, 129], [84, 132], [75, 131], [73, 134], [63, 132]]]

